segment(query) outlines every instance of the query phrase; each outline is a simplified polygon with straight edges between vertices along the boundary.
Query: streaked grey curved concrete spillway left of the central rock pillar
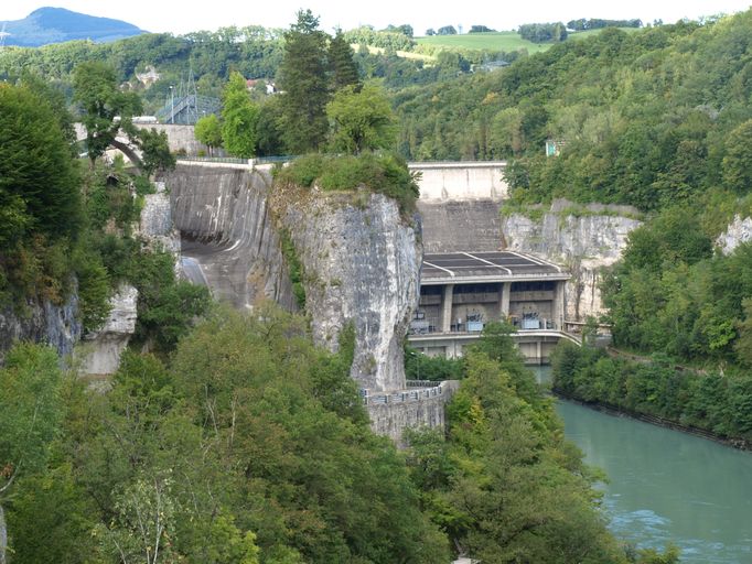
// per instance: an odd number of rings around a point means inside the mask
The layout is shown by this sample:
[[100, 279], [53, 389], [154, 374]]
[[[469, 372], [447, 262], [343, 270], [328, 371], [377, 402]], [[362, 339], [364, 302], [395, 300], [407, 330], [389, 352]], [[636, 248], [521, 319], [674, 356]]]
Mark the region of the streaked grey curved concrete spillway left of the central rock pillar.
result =
[[294, 310], [292, 288], [269, 215], [270, 177], [232, 167], [179, 165], [163, 177], [192, 280], [238, 308], [260, 299]]

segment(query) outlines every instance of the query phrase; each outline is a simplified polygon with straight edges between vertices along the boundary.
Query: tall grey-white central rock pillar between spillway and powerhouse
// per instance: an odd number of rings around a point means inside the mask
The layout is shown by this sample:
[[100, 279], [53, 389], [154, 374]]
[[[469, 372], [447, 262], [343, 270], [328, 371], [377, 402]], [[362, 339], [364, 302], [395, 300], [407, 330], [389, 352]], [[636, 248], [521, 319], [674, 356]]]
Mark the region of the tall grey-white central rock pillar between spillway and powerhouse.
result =
[[365, 192], [356, 198], [353, 205], [352, 195], [298, 191], [288, 198], [296, 204], [276, 208], [304, 269], [305, 310], [316, 343], [336, 350], [340, 333], [352, 323], [353, 378], [362, 388], [399, 390], [422, 249], [394, 200]]

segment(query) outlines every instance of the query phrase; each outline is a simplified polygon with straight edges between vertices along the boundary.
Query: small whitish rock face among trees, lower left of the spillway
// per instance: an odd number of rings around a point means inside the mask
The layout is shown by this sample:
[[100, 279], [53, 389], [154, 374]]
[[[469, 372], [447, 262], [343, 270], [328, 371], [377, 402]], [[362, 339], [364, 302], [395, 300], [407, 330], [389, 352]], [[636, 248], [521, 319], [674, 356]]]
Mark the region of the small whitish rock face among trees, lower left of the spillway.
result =
[[137, 302], [138, 290], [126, 284], [110, 297], [109, 317], [99, 330], [84, 337], [85, 341], [90, 343], [90, 346], [86, 347], [90, 351], [83, 361], [84, 373], [111, 375], [117, 371], [120, 355], [136, 332]]

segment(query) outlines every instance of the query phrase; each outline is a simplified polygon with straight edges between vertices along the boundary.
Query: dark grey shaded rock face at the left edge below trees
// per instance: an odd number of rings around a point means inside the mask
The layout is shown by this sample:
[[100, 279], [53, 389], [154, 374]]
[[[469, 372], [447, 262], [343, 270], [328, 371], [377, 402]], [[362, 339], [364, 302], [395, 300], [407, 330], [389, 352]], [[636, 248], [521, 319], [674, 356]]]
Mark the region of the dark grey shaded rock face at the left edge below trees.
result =
[[69, 355], [82, 334], [77, 313], [78, 294], [75, 291], [62, 305], [30, 302], [20, 312], [0, 311], [0, 361], [17, 340], [47, 343], [58, 355]]

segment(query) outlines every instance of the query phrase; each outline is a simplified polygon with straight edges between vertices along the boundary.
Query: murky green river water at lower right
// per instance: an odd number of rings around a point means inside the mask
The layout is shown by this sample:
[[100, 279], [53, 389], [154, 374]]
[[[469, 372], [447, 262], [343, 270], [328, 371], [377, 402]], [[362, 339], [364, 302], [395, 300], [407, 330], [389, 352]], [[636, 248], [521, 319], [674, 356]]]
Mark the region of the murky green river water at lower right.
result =
[[599, 488], [616, 536], [673, 542], [683, 563], [752, 563], [752, 453], [568, 401], [557, 411], [586, 462], [609, 477]]

